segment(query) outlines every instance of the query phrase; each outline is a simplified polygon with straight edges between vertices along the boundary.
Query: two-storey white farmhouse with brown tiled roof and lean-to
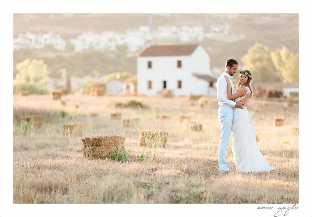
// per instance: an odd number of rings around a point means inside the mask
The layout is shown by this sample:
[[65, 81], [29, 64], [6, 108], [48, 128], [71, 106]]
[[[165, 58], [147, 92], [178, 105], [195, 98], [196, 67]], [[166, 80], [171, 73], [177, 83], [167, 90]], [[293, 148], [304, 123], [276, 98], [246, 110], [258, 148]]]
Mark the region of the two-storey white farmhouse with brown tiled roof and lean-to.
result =
[[174, 95], [216, 96], [218, 75], [198, 44], [154, 45], [137, 58], [137, 93], [157, 95], [163, 88]]

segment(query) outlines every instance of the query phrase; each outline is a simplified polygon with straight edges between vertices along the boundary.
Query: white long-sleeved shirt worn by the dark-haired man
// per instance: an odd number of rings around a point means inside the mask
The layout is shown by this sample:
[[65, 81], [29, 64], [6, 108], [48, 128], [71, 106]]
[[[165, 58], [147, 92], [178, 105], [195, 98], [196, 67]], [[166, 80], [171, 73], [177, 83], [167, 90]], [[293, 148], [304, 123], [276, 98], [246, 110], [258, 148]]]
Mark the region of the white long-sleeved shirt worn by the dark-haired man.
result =
[[[236, 102], [233, 102], [232, 100], [227, 98], [227, 82], [223, 76], [227, 76], [228, 78], [230, 78], [230, 75], [228, 73], [223, 72], [223, 74], [217, 79], [216, 87], [219, 107], [222, 105], [235, 107]], [[235, 93], [235, 88], [232, 80], [230, 80], [230, 83], [232, 86], [232, 94], [233, 94]]]

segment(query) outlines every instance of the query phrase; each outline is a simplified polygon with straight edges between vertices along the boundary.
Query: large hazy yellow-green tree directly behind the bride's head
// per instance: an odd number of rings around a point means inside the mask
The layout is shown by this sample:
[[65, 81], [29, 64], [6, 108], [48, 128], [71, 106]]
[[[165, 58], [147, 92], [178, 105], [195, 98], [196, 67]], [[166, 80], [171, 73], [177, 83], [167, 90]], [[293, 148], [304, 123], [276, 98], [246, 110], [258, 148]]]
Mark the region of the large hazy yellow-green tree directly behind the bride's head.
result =
[[248, 69], [252, 74], [253, 82], [278, 82], [281, 75], [275, 68], [271, 58], [270, 49], [261, 43], [256, 43], [248, 49], [248, 53], [242, 56], [243, 69]]

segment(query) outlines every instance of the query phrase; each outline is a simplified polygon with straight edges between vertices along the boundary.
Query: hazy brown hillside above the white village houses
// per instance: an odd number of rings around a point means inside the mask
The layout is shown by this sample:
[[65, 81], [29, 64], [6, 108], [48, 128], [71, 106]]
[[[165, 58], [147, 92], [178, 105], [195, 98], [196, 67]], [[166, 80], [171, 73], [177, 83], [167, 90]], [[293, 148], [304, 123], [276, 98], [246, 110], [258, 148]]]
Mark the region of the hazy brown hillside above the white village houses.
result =
[[[228, 23], [233, 35], [208, 38], [201, 44], [211, 57], [212, 68], [223, 68], [227, 58], [241, 62], [241, 56], [255, 43], [274, 50], [285, 45], [290, 52], [299, 50], [298, 14], [153, 14], [153, 29], [161, 25], [202, 25], [209, 33], [211, 25]], [[64, 39], [90, 31], [125, 33], [149, 25], [149, 14], [14, 14], [13, 34], [60, 33]]]

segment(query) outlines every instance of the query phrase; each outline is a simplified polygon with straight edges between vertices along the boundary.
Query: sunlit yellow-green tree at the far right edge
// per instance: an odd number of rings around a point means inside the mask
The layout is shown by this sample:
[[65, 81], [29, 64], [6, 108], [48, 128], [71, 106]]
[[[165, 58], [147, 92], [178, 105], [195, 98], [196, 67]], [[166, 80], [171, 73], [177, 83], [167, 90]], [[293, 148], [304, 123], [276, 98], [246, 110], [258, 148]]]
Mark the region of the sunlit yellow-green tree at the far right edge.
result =
[[271, 57], [283, 83], [299, 81], [299, 53], [293, 54], [282, 46], [272, 51]]

